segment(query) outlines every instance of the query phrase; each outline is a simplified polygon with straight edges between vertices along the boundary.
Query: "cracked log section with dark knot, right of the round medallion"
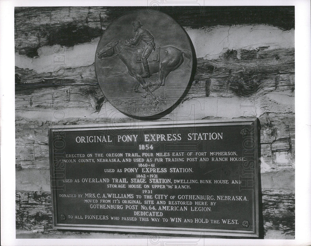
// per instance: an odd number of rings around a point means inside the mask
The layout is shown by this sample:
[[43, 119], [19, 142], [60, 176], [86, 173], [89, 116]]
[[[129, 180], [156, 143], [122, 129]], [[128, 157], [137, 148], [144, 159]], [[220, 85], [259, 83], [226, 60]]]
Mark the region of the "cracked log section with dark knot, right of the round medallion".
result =
[[209, 96], [213, 91], [217, 92], [215, 96], [224, 91], [249, 96], [261, 90], [295, 89], [293, 49], [259, 49], [252, 53], [252, 57], [246, 58], [238, 56], [237, 51], [227, 51], [222, 59], [212, 61], [199, 58], [193, 87], [207, 88], [205, 94]]

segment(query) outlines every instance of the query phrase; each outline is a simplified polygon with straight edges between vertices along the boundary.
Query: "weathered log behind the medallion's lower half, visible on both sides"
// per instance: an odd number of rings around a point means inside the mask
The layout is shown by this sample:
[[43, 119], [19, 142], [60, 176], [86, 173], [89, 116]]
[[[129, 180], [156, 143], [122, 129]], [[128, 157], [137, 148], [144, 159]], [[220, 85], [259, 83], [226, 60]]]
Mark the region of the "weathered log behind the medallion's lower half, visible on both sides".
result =
[[[269, 92], [294, 95], [292, 49], [259, 50], [248, 60], [226, 54], [222, 59], [198, 60], [188, 98], [259, 97]], [[94, 65], [41, 74], [16, 67], [15, 78], [16, 109], [91, 107], [98, 112], [105, 101]]]

